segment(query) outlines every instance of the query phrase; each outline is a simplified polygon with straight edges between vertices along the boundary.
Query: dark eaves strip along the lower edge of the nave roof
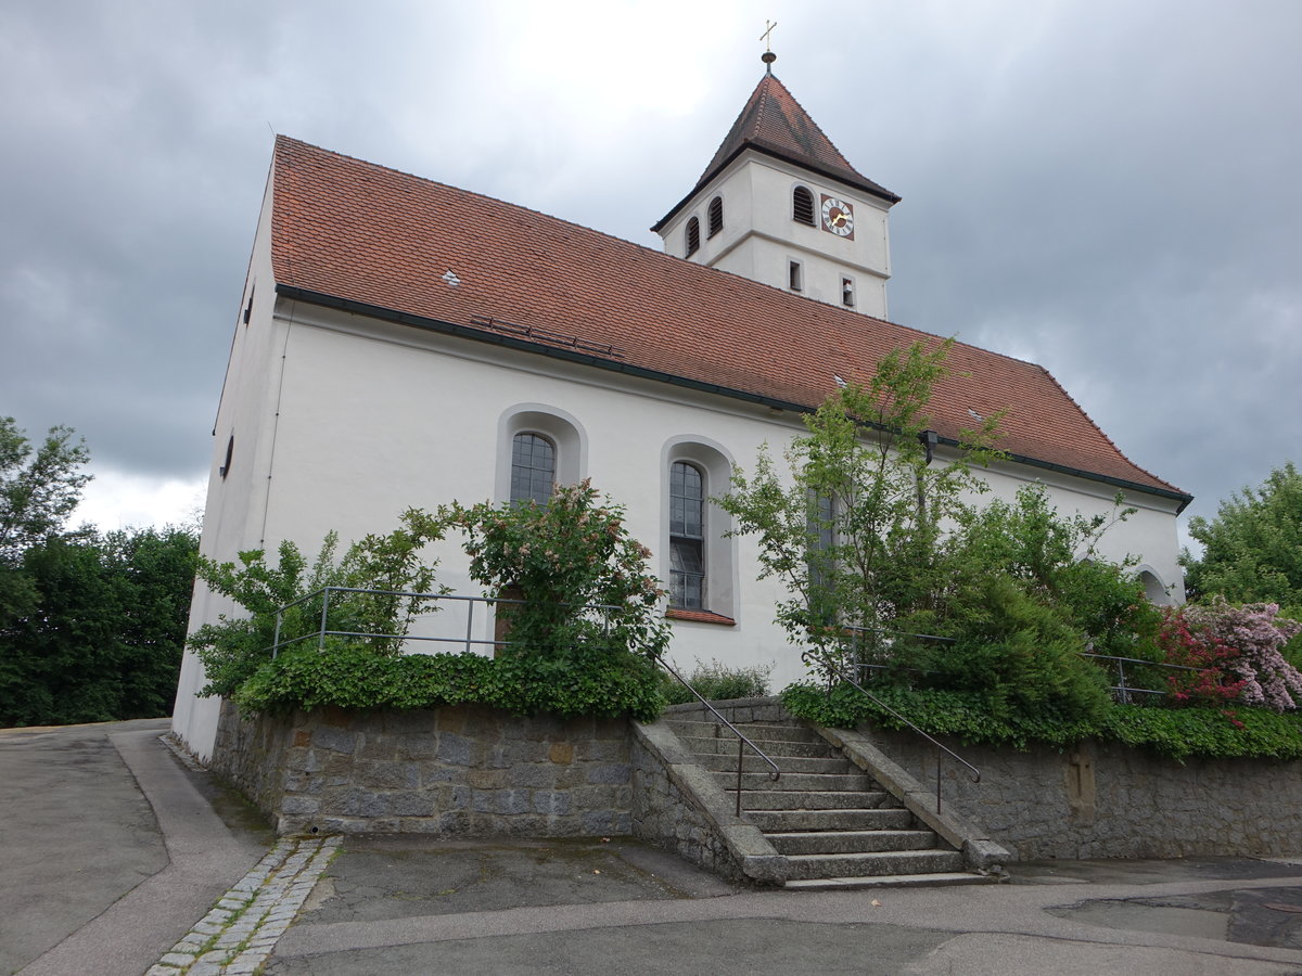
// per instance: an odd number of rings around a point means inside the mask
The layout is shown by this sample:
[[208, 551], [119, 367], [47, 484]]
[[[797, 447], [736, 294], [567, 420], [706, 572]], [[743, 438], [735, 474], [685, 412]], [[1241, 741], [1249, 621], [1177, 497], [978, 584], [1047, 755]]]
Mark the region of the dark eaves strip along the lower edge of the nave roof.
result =
[[[790, 410], [798, 414], [811, 414], [816, 410], [815, 406], [810, 406], [807, 403], [796, 403], [792, 401], [780, 400], [777, 397], [768, 397], [762, 393], [751, 393], [750, 390], [737, 389], [734, 386], [724, 386], [715, 383], [693, 380], [686, 376], [677, 376], [674, 373], [663, 372], [660, 370], [650, 370], [644, 366], [634, 366], [633, 363], [604, 359], [602, 357], [590, 355], [587, 353], [581, 353], [573, 349], [559, 349], [556, 346], [548, 346], [542, 342], [530, 342], [527, 340], [517, 338], [513, 336], [504, 336], [495, 332], [484, 332], [483, 329], [471, 328], [469, 325], [458, 325], [456, 323], [444, 321], [441, 319], [431, 319], [423, 315], [413, 315], [411, 312], [401, 312], [395, 308], [387, 308], [384, 306], [368, 305], [366, 302], [357, 302], [350, 298], [340, 298], [339, 295], [331, 295], [324, 291], [314, 291], [311, 289], [299, 288], [297, 285], [277, 282], [276, 294], [301, 302], [307, 302], [309, 305], [316, 305], [323, 308], [339, 308], [341, 311], [353, 312], [357, 315], [365, 315], [372, 319], [380, 319], [383, 321], [392, 321], [401, 325], [410, 325], [430, 332], [439, 332], [448, 336], [457, 336], [460, 338], [474, 340], [477, 342], [488, 342], [492, 345], [504, 346], [506, 349], [518, 349], [525, 353], [548, 355], [555, 359], [562, 359], [566, 362], [578, 363], [581, 366], [592, 366], [599, 370], [621, 372], [628, 376], [637, 376], [639, 379], [651, 380], [655, 383], [667, 383], [673, 386], [693, 389], [699, 393], [711, 393], [715, 396], [728, 397], [730, 400], [741, 400], [749, 403], [758, 403], [760, 406], [773, 407], [777, 410]], [[940, 437], [940, 442], [949, 446], [958, 446], [960, 444], [960, 441], [944, 436]], [[1047, 471], [1056, 471], [1060, 474], [1073, 475], [1075, 478], [1083, 478], [1091, 481], [1100, 481], [1103, 484], [1111, 484], [1116, 488], [1124, 488], [1126, 491], [1143, 492], [1163, 498], [1172, 498], [1180, 502], [1180, 508], [1176, 509], [1177, 514], [1184, 511], [1185, 508], [1194, 500], [1191, 495], [1186, 495], [1185, 492], [1178, 492], [1169, 488], [1157, 488], [1155, 485], [1146, 485], [1146, 484], [1139, 484], [1137, 481], [1128, 481], [1122, 478], [1103, 475], [1095, 471], [1086, 471], [1083, 468], [1070, 467], [1068, 465], [1059, 465], [1051, 461], [1040, 461], [1038, 458], [1027, 457], [1023, 454], [1012, 454], [1006, 452], [1005, 454], [1010, 461], [1014, 461], [1019, 465], [1027, 465], [1030, 467], [1039, 467]]]

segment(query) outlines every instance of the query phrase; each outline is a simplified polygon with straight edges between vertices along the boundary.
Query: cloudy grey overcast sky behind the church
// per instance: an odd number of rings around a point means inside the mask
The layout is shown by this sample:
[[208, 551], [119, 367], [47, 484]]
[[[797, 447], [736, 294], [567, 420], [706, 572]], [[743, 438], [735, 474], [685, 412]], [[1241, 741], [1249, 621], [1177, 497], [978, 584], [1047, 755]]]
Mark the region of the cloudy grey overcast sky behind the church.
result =
[[0, 5], [0, 415], [107, 528], [202, 500], [272, 133], [639, 243], [775, 73], [891, 213], [891, 318], [1046, 366], [1198, 496], [1302, 462], [1302, 3]]

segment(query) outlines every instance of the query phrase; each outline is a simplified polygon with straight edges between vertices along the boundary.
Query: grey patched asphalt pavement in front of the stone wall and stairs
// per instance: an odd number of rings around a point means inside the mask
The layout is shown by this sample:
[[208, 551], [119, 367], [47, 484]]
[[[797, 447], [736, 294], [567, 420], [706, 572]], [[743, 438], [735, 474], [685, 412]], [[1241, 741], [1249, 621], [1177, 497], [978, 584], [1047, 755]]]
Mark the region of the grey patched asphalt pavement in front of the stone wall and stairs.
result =
[[1302, 973], [1302, 860], [788, 893], [618, 837], [277, 843], [167, 726], [0, 730], [0, 973]]

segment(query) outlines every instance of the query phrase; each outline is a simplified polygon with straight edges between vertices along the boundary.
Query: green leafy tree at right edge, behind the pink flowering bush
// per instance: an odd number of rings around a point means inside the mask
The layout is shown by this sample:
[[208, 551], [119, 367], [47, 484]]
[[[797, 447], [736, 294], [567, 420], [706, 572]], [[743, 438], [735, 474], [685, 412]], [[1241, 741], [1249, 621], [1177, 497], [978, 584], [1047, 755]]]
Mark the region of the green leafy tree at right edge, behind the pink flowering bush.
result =
[[1302, 616], [1302, 472], [1289, 461], [1259, 488], [1223, 501], [1216, 518], [1189, 521], [1203, 554], [1184, 554], [1191, 599], [1277, 603]]

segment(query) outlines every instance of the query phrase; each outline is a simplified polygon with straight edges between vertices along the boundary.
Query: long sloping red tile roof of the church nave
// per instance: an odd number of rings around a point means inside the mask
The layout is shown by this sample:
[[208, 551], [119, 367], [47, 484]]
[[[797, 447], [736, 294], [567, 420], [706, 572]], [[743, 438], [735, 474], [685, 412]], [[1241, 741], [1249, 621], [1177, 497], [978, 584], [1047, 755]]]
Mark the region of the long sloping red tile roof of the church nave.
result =
[[[318, 301], [802, 407], [833, 375], [866, 380], [888, 350], [939, 341], [286, 137], [273, 180], [277, 286]], [[1006, 407], [1000, 446], [1014, 455], [1187, 497], [1124, 457], [1039, 366], [965, 344], [949, 363], [931, 403], [941, 436], [973, 426], [969, 410]]]

